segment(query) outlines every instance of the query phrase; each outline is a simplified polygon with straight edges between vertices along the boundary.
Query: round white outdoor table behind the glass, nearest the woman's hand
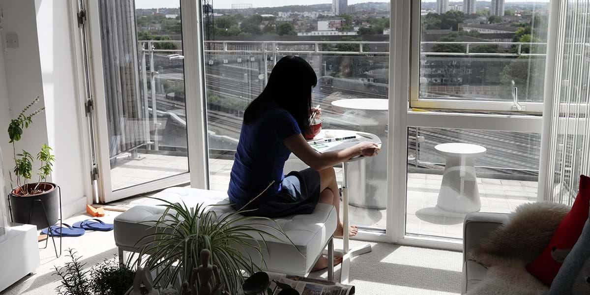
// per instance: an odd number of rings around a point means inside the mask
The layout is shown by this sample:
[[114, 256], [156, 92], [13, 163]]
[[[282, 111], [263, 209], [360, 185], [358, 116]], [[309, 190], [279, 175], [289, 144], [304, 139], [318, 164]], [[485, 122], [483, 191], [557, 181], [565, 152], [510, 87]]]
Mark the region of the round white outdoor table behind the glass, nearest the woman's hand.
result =
[[[387, 136], [389, 101], [386, 99], [341, 99], [332, 101], [332, 106], [340, 107], [342, 109], [350, 110], [353, 114], [353, 120], [350, 123], [358, 124], [361, 131], [375, 134], [376, 136], [385, 139]], [[358, 120], [356, 120], [358, 119]], [[363, 120], [360, 120], [363, 119]], [[381, 153], [387, 155], [387, 143], [383, 142]], [[359, 175], [357, 179], [356, 173], [351, 173], [350, 179], [351, 191], [357, 191], [350, 198], [350, 204], [355, 207], [378, 209], [382, 210], [387, 207], [387, 161], [382, 159], [369, 159], [365, 163], [358, 163], [352, 166], [362, 166], [359, 168]], [[369, 173], [366, 173], [369, 171]], [[373, 186], [366, 186], [366, 176], [372, 179]], [[357, 186], [358, 183], [358, 188]], [[377, 183], [382, 183], [378, 185]]]

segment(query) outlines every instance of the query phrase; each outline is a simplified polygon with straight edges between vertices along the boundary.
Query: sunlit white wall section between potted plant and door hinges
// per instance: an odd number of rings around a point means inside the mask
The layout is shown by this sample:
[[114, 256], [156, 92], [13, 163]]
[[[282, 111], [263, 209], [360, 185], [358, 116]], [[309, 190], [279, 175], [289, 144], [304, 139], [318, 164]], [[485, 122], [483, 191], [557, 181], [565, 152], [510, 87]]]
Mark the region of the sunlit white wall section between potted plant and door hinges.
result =
[[63, 214], [86, 206], [85, 173], [76, 72], [71, 46], [68, 1], [35, 0], [40, 47], [41, 77], [45, 98], [48, 144], [54, 150], [53, 182], [61, 186]]

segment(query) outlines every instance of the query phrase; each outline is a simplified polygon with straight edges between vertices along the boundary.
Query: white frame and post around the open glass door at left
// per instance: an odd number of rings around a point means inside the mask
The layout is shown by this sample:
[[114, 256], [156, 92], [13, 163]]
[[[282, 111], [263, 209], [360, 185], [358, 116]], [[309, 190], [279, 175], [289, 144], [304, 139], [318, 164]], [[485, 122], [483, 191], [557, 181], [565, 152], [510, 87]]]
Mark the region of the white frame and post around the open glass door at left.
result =
[[[107, 134], [106, 93], [104, 90], [103, 59], [101, 53], [101, 34], [99, 3], [83, 0], [87, 9], [88, 61], [91, 76], [91, 96], [94, 102], [92, 115], [95, 119], [94, 144], [96, 146], [96, 163], [99, 177], [96, 179], [97, 201], [101, 204], [117, 199], [155, 191], [180, 183], [191, 183], [192, 188], [208, 189], [208, 152], [207, 152], [207, 124], [205, 116], [204, 85], [202, 76], [203, 42], [202, 28], [198, 21], [201, 15], [201, 5], [194, 0], [179, 0], [182, 7], [182, 38], [185, 81], [199, 81], [185, 83], [186, 92], [186, 120], [188, 140], [188, 172], [180, 173], [162, 179], [156, 179], [139, 185], [113, 191], [109, 162], [109, 137]], [[90, 141], [92, 139], [89, 139]], [[106, 155], [106, 156], [105, 156]]]

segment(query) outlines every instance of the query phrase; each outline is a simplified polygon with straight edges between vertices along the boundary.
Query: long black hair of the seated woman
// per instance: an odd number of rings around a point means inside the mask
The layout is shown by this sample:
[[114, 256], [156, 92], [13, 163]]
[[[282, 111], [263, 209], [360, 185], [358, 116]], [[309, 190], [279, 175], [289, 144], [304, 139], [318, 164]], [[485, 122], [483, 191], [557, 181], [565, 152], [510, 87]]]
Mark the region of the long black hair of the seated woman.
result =
[[246, 107], [244, 124], [254, 122], [274, 102], [293, 116], [301, 132], [306, 132], [309, 130], [312, 87], [316, 84], [316, 73], [303, 58], [293, 55], [281, 58], [274, 65], [262, 93]]

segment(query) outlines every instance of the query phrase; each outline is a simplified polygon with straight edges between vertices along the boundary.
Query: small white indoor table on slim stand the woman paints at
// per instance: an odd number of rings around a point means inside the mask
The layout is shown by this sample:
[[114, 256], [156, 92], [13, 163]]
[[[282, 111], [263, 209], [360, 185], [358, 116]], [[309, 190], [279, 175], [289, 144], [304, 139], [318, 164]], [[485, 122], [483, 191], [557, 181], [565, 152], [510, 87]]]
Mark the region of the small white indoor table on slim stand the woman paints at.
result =
[[[366, 132], [356, 132], [351, 130], [336, 130], [336, 129], [326, 129], [320, 132], [319, 136], [316, 136], [314, 140], [317, 140], [318, 137], [322, 137], [324, 132], [330, 132], [335, 135], [335, 137], [348, 137], [348, 136], [357, 136], [358, 138], [362, 138], [359, 135], [365, 135], [371, 137], [372, 142], [380, 143], [381, 140], [378, 136], [373, 135], [371, 133]], [[342, 267], [340, 269], [340, 283], [348, 284], [349, 274], [350, 274], [350, 258], [356, 257], [361, 254], [369, 253], [372, 251], [370, 244], [360, 245], [358, 247], [350, 249], [349, 247], [349, 233], [348, 228], [350, 227], [350, 220], [349, 220], [349, 202], [348, 202], [348, 165], [352, 162], [363, 161], [366, 158], [364, 156], [356, 156], [352, 159], [349, 159], [342, 163], [342, 226], [343, 226], [343, 237], [342, 237], [342, 250], [335, 250], [335, 253], [342, 255]], [[360, 165], [364, 167], [364, 165]], [[333, 263], [333, 257], [328, 257], [328, 263]], [[330, 269], [330, 268], [328, 268]], [[333, 274], [328, 274], [331, 277]]]

